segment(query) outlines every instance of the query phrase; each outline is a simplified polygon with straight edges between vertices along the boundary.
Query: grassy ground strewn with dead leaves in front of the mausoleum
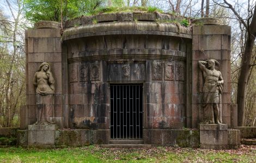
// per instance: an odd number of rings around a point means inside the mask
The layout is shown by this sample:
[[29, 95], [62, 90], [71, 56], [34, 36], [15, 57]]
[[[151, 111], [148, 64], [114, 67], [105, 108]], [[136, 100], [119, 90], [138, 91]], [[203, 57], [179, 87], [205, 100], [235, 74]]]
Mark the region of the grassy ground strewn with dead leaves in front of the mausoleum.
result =
[[239, 150], [156, 147], [106, 149], [95, 146], [63, 149], [0, 148], [0, 162], [256, 162], [256, 146]]

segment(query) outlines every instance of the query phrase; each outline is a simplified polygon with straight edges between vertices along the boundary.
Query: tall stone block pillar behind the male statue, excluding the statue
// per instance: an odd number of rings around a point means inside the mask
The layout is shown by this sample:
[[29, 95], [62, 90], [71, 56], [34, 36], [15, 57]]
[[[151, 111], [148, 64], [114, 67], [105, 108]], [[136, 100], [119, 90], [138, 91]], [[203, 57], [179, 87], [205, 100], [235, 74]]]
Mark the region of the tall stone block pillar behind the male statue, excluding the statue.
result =
[[221, 71], [224, 80], [222, 91], [222, 121], [230, 127], [230, 30], [229, 26], [204, 25], [193, 26], [193, 46], [190, 70], [191, 86], [188, 97], [191, 99], [187, 109], [188, 127], [195, 128], [202, 121], [203, 76], [198, 60], [215, 59], [220, 62], [217, 70]]

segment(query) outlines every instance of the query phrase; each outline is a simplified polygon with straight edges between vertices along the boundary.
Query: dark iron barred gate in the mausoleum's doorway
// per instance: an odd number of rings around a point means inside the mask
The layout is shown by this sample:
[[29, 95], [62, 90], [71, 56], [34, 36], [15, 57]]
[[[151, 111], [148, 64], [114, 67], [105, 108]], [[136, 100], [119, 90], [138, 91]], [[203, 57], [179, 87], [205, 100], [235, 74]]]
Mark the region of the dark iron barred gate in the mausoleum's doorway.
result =
[[110, 85], [111, 139], [143, 139], [143, 85]]

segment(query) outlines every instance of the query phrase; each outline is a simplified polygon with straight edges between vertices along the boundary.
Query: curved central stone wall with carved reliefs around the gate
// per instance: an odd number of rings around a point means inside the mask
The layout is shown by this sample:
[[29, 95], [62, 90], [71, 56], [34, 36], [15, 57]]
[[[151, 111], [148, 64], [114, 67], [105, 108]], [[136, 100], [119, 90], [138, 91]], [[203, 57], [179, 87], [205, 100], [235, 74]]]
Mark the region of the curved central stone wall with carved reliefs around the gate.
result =
[[[156, 29], [157, 26], [166, 28]], [[189, 31], [186, 30], [188, 38], [180, 38], [173, 24], [155, 22], [99, 23], [73, 28], [63, 34], [69, 62], [72, 127], [108, 129], [111, 83], [143, 84], [144, 129], [184, 126]], [[130, 67], [128, 76], [124, 76], [123, 65]], [[97, 73], [93, 74], [93, 70]]]

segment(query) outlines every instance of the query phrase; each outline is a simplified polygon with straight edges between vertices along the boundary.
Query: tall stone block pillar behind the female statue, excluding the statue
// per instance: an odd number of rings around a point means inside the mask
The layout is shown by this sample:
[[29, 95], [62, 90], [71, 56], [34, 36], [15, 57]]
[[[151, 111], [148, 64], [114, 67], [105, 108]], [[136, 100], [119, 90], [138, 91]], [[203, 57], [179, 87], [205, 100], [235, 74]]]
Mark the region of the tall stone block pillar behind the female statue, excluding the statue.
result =
[[[21, 108], [21, 128], [36, 122], [35, 87], [33, 77], [42, 62], [49, 62], [55, 79], [53, 119], [63, 128], [63, 96], [62, 85], [62, 42], [60, 28], [56, 22], [40, 22], [36, 29], [26, 31], [26, 95], [27, 107]], [[51, 27], [51, 28], [50, 28]], [[24, 121], [25, 120], [25, 121]]]

